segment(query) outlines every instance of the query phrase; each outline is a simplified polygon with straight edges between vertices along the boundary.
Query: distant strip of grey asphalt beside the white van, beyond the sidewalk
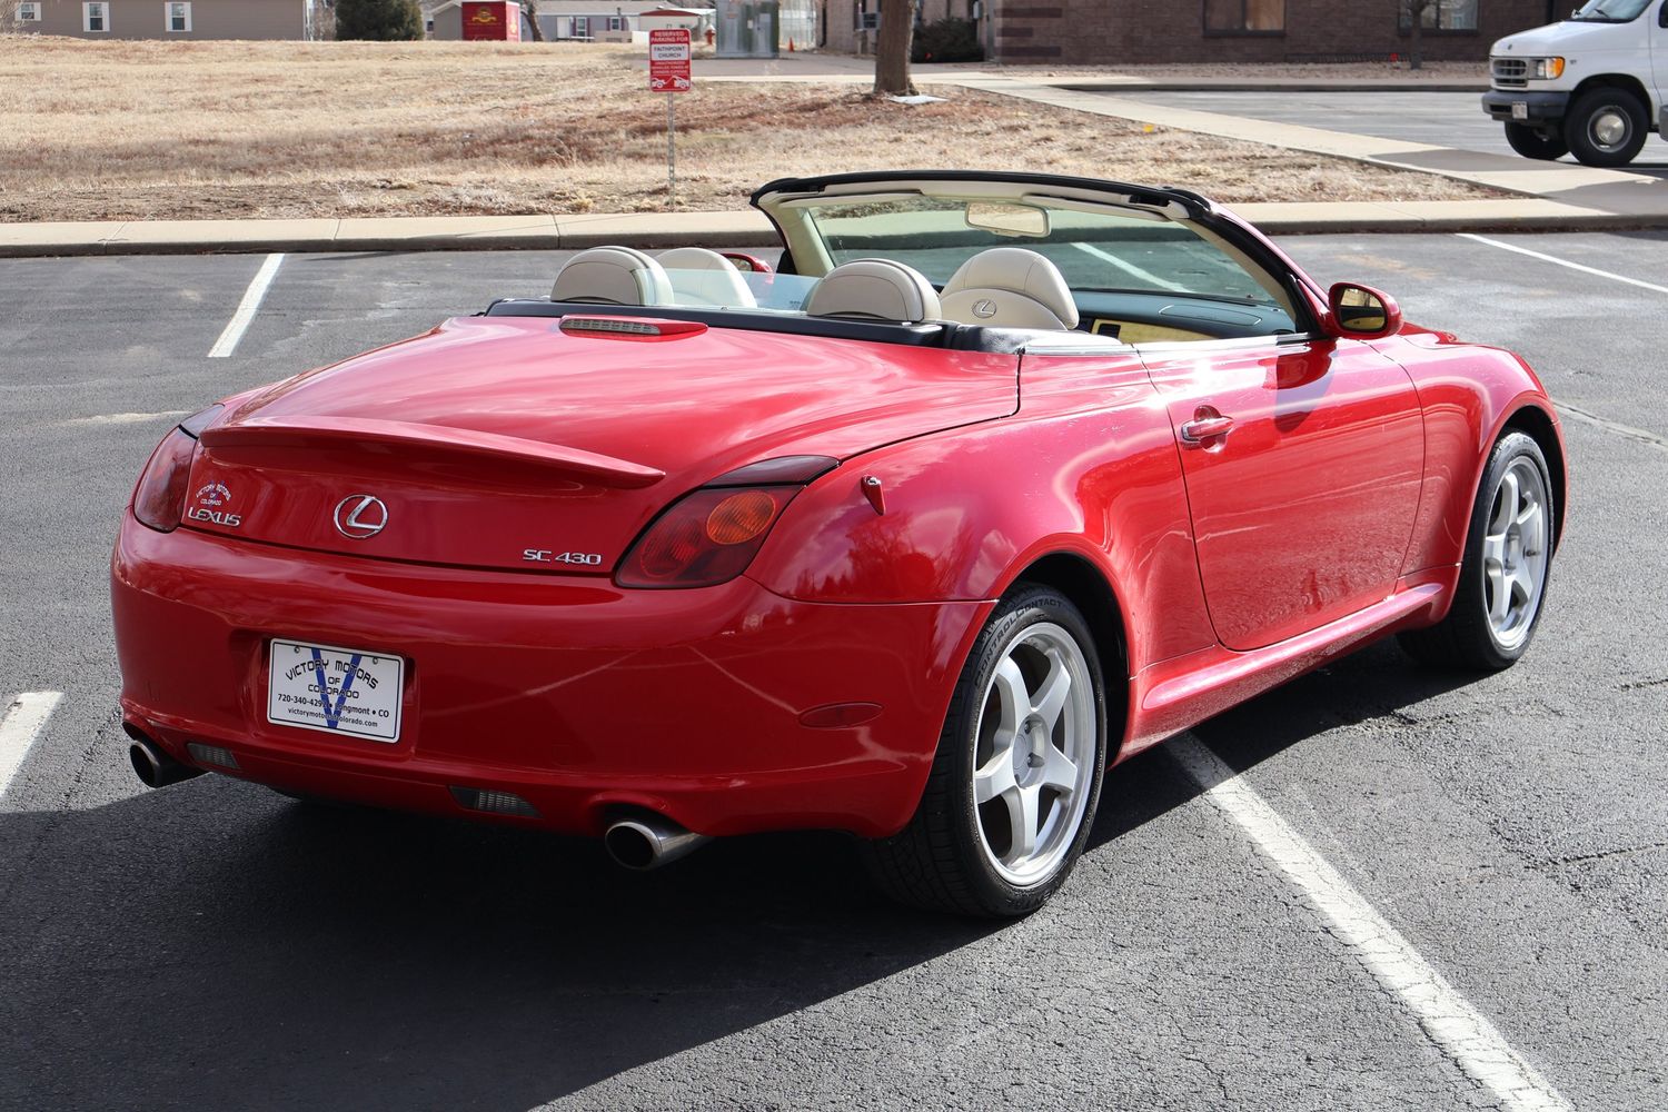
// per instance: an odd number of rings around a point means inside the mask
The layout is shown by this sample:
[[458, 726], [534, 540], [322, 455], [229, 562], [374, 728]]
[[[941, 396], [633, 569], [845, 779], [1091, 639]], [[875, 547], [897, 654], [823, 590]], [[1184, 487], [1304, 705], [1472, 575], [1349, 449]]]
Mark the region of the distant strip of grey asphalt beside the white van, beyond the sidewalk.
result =
[[[1483, 113], [1481, 93], [1141, 92], [1128, 100], [1520, 157], [1506, 145], [1505, 128]], [[1563, 162], [1575, 158], [1565, 155]], [[1648, 137], [1645, 150], [1626, 168], [1668, 177], [1668, 140]]]

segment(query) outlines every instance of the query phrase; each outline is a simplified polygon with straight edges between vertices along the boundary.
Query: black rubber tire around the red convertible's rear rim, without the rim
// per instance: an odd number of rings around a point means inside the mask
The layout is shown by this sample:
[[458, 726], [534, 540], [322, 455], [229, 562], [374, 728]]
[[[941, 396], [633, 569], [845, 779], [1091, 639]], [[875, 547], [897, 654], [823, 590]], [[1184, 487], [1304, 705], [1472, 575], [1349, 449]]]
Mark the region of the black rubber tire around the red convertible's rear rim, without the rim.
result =
[[[1049, 804], [1064, 807], [1053, 842], [1054, 852], [1063, 855], [1046, 875], [1027, 884], [1012, 884], [991, 862], [992, 850], [987, 850], [986, 835], [981, 832], [972, 779], [981, 719], [986, 714], [986, 700], [994, 697], [997, 667], [1009, 654], [1022, 649], [1021, 639], [1027, 637], [1026, 630], [1034, 630], [1041, 637], [1058, 637], [1058, 630], [1064, 630], [1081, 652], [1088, 669], [1088, 690], [1093, 692], [1093, 757], [1086, 784], [1079, 789], [1084, 792], [1086, 805], [1078, 819], [1078, 829], [1069, 830], [1069, 812], [1074, 807], [1063, 804], [1066, 797], [1056, 795]], [[1083, 704], [1074, 705], [1084, 714], [1091, 712]], [[909, 825], [889, 839], [864, 845], [869, 874], [887, 895], [912, 907], [987, 919], [1027, 915], [1059, 890], [1083, 854], [1101, 800], [1106, 759], [1106, 690], [1094, 637], [1064, 595], [1048, 587], [1022, 584], [997, 604], [962, 667], [939, 735], [932, 772]], [[1001, 802], [992, 799], [986, 807]]]

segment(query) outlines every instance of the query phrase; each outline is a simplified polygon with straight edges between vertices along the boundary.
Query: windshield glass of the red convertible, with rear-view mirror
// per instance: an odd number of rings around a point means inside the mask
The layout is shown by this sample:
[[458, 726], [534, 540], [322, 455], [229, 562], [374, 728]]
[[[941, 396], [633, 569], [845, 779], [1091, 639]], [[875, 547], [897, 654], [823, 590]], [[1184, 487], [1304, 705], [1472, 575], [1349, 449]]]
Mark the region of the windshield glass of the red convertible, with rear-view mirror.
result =
[[834, 265], [891, 258], [942, 287], [992, 247], [1049, 258], [1076, 292], [1166, 293], [1279, 305], [1279, 287], [1194, 228], [1156, 213], [1071, 205], [899, 197], [807, 205]]

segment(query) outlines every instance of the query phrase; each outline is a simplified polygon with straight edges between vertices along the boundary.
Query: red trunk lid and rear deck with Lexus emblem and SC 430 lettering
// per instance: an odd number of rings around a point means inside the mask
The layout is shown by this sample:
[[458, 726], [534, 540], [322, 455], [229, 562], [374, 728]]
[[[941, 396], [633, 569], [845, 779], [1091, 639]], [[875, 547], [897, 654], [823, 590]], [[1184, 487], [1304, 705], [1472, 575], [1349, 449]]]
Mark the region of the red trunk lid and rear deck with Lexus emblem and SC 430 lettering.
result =
[[667, 503], [734, 467], [846, 458], [1014, 412], [1016, 363], [739, 328], [644, 343], [552, 318], [459, 318], [277, 383], [205, 430], [185, 525], [607, 574]]

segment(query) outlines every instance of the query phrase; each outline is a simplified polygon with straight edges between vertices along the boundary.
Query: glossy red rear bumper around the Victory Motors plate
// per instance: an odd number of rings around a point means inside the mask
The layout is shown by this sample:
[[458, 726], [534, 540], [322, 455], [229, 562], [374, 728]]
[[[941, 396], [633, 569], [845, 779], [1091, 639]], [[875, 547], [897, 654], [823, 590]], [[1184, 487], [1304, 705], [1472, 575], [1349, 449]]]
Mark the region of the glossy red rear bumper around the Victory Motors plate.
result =
[[[122, 710], [173, 757], [232, 750], [250, 780], [475, 815], [452, 787], [514, 792], [597, 834], [612, 807], [702, 834], [914, 812], [951, 689], [989, 602], [822, 605], [742, 577], [699, 590], [412, 567], [123, 520], [112, 559]], [[395, 744], [265, 720], [285, 637], [407, 660]], [[806, 710], [877, 704], [852, 727]], [[215, 769], [217, 772], [222, 769]]]

